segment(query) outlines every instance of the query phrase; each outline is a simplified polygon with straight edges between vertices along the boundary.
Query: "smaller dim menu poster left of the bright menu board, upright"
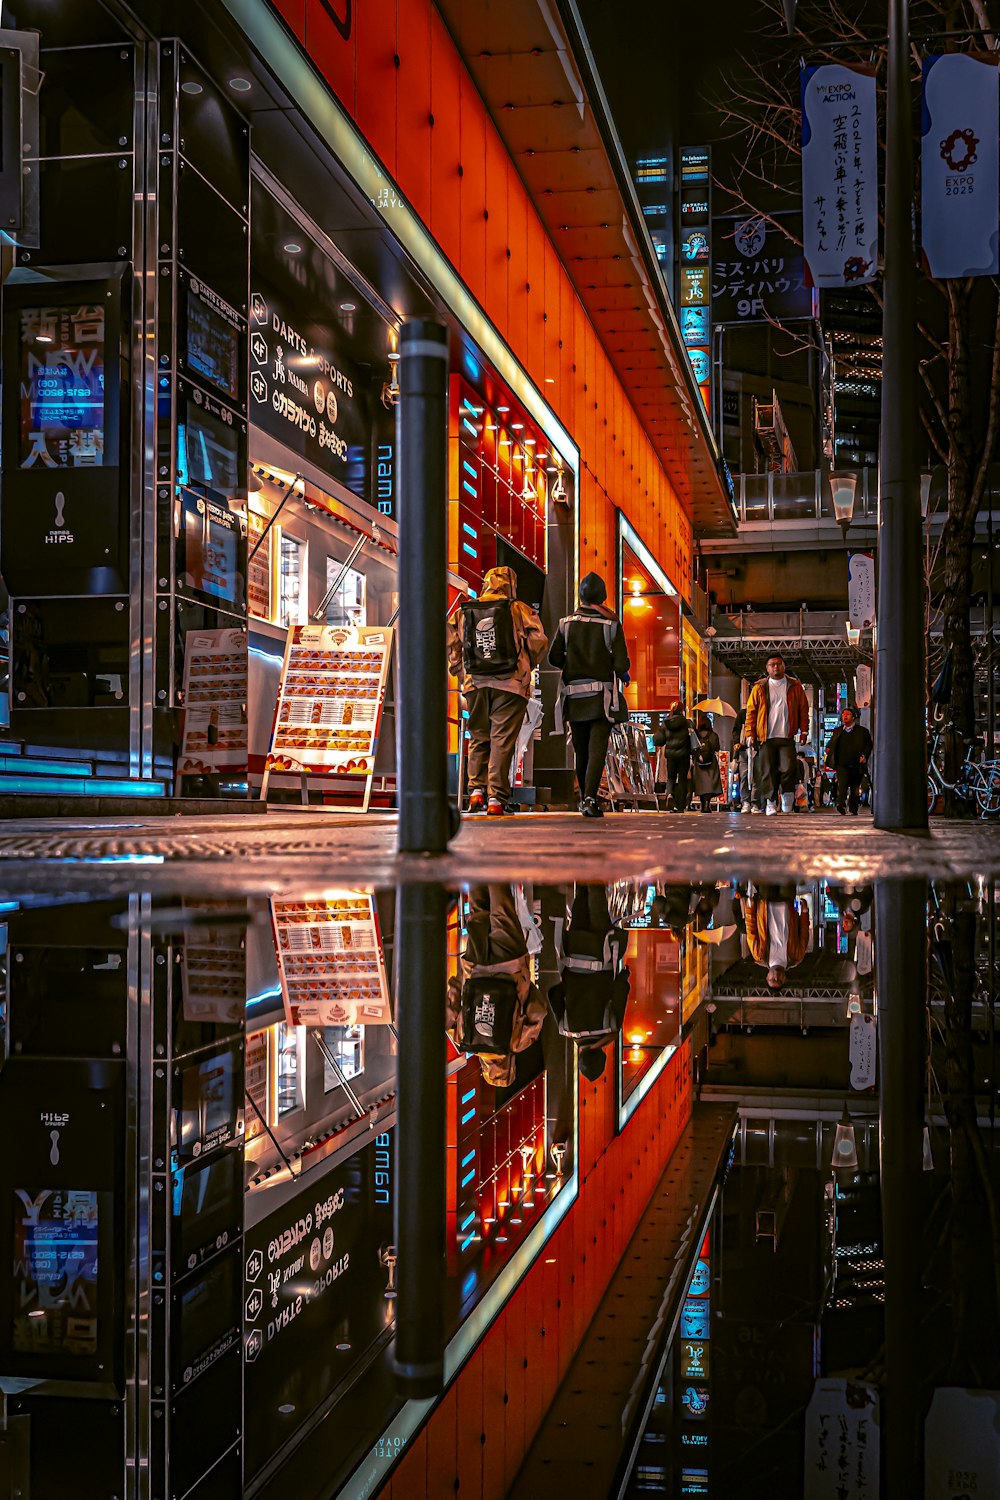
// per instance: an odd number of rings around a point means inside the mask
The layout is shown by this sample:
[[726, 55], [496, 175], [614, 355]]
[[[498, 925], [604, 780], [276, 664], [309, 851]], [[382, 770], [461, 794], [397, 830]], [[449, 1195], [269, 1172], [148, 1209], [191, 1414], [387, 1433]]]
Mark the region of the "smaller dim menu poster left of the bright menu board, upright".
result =
[[178, 776], [246, 771], [246, 630], [189, 630]]

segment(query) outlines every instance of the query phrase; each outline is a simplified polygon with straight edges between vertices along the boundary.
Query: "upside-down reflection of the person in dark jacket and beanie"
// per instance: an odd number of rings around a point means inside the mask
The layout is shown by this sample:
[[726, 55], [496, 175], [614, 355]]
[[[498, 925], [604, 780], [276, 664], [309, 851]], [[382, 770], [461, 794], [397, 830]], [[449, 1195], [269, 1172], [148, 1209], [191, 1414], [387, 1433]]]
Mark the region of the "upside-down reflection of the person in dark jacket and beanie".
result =
[[570, 921], [562, 930], [559, 981], [549, 1005], [559, 1032], [579, 1048], [580, 1072], [600, 1078], [604, 1048], [621, 1032], [628, 1005], [627, 936], [615, 927], [603, 885], [577, 885]]

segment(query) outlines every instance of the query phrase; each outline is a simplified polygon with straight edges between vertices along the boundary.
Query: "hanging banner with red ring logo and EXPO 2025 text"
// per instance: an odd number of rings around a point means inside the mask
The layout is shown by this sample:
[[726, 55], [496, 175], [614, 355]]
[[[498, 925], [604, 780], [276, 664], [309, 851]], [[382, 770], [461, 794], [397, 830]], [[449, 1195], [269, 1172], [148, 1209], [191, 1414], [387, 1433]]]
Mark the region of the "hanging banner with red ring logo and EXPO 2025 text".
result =
[[1000, 126], [996, 57], [924, 58], [921, 220], [930, 276], [996, 276]]

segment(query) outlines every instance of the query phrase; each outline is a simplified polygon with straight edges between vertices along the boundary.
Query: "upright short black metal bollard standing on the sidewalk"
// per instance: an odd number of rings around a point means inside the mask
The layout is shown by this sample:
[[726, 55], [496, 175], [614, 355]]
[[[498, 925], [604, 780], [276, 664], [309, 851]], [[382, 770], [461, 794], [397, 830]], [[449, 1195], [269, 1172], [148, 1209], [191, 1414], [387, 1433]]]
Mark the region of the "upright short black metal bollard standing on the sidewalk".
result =
[[448, 846], [448, 332], [414, 318], [399, 338], [399, 717], [400, 854]]

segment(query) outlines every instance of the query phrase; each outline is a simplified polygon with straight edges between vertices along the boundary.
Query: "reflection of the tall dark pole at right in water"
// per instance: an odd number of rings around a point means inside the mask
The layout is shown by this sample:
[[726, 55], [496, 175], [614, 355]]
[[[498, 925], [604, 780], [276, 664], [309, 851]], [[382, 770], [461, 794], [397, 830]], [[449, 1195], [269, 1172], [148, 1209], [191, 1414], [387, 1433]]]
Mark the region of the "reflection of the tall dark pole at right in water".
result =
[[883, 882], [876, 890], [879, 986], [879, 1132], [886, 1278], [885, 1494], [924, 1494], [921, 1464], [921, 1172], [924, 1161], [924, 1036], [927, 1005], [927, 886]]

